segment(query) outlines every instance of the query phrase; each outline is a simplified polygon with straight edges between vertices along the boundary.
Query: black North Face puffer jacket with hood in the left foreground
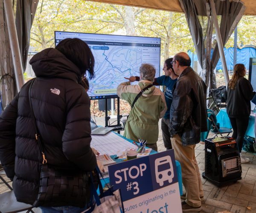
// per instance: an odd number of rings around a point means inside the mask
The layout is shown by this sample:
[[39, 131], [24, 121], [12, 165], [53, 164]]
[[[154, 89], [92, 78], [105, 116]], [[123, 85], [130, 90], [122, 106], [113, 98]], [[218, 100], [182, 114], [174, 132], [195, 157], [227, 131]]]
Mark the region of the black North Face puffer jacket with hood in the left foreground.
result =
[[[53, 48], [36, 54], [30, 64], [37, 76], [32, 106], [48, 164], [93, 170], [96, 156], [90, 148], [90, 99], [78, 83], [79, 68]], [[0, 116], [0, 161], [7, 176], [13, 178], [17, 200], [33, 204], [42, 156], [29, 107], [30, 83]]]

